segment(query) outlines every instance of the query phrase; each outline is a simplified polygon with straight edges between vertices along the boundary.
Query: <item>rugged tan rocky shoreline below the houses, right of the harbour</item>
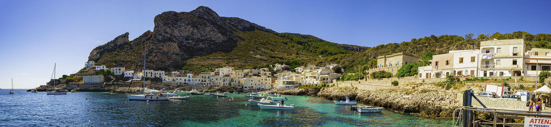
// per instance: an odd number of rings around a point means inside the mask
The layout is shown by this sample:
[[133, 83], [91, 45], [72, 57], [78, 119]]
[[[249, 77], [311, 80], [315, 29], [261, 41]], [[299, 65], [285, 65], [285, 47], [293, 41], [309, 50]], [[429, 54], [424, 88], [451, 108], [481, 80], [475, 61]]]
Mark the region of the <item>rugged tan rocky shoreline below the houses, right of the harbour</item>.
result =
[[434, 86], [401, 87], [399, 89], [358, 90], [355, 87], [324, 87], [321, 90], [295, 88], [278, 91], [283, 95], [317, 95], [327, 100], [350, 100], [384, 107], [394, 112], [410, 113], [430, 118], [451, 118], [461, 107], [461, 91], [441, 90]]

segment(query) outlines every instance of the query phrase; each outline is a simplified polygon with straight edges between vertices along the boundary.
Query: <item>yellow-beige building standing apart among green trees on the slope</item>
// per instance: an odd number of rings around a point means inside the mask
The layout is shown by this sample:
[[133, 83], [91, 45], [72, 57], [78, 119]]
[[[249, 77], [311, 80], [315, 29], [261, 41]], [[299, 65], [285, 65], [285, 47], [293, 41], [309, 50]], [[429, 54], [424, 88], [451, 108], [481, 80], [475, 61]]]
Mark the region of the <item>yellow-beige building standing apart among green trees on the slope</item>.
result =
[[418, 61], [419, 57], [406, 53], [394, 53], [386, 56], [379, 56], [377, 57], [377, 68], [369, 69], [368, 72], [373, 73], [375, 71], [387, 71], [392, 73], [392, 75], [396, 75], [396, 73], [398, 73], [398, 69], [402, 68], [403, 65]]

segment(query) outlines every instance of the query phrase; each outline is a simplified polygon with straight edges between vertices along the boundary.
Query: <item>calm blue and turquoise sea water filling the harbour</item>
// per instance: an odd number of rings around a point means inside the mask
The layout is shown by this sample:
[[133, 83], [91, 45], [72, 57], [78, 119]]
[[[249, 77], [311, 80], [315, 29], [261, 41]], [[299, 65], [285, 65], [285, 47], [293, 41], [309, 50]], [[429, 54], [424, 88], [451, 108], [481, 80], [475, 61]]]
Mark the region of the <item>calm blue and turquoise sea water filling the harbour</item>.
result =
[[[0, 90], [0, 126], [449, 126], [451, 120], [383, 111], [356, 113], [319, 97], [287, 96], [293, 111], [263, 110], [243, 95], [128, 101], [125, 94], [46, 95]], [[88, 100], [85, 98], [88, 97]], [[231, 98], [233, 97], [233, 99]]]

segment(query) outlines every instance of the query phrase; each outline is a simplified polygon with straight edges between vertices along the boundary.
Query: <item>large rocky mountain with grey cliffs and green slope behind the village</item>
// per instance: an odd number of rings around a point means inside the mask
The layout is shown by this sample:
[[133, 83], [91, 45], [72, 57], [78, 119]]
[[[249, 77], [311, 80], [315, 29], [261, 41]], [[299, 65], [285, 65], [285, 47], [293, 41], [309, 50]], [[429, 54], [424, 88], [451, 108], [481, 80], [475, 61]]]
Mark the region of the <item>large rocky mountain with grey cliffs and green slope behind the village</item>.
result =
[[161, 13], [155, 16], [154, 25], [153, 31], [132, 41], [127, 32], [94, 48], [88, 60], [97, 65], [141, 70], [147, 42], [148, 69], [198, 72], [224, 65], [260, 68], [286, 63], [292, 67], [369, 49], [311, 35], [278, 33], [244, 19], [219, 16], [203, 6], [191, 12]]

